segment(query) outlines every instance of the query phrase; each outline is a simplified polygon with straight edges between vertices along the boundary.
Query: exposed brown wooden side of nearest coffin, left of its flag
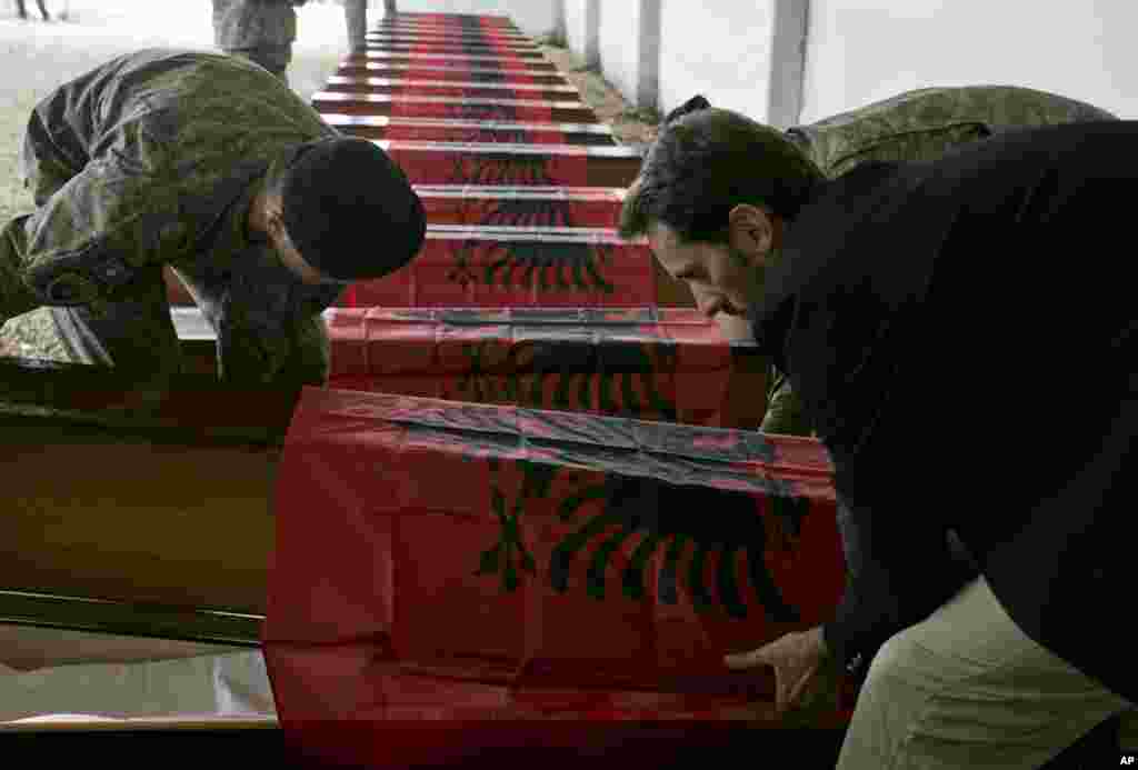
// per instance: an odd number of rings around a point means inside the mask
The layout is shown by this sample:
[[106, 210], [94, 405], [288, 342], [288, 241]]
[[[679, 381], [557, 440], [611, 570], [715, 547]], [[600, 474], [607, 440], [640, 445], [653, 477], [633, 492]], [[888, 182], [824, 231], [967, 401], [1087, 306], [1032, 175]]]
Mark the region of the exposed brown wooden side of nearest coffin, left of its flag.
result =
[[0, 358], [0, 622], [256, 644], [296, 394]]

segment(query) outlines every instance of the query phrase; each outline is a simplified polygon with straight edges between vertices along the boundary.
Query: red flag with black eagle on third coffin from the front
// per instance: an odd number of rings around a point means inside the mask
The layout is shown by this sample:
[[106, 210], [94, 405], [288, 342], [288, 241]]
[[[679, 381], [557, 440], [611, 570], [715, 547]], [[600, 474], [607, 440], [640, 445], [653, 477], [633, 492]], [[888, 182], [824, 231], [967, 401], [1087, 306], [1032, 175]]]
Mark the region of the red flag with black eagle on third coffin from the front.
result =
[[345, 307], [624, 307], [654, 305], [643, 243], [496, 240], [429, 232], [406, 267], [353, 284]]

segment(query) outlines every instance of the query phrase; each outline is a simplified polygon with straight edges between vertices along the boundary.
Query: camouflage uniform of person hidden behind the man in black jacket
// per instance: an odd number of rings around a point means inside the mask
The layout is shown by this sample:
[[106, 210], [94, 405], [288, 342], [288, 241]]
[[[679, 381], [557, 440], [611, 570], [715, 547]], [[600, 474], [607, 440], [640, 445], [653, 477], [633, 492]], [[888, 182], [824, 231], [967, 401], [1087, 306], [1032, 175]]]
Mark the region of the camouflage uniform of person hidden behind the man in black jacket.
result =
[[[1112, 119], [1116, 116], [1106, 110], [1054, 93], [975, 85], [907, 91], [786, 133], [833, 179], [868, 160], [931, 160], [954, 147], [1015, 129]], [[762, 430], [810, 433], [790, 382], [775, 372], [770, 381]]]

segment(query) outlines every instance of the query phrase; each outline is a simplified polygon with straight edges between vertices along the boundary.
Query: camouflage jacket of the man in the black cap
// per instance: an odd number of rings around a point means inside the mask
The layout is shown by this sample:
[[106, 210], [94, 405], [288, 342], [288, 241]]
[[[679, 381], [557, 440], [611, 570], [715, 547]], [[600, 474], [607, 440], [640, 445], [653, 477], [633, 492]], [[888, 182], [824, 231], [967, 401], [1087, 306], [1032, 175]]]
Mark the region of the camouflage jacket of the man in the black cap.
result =
[[[119, 57], [35, 108], [22, 171], [39, 208], [5, 227], [0, 263], [16, 252], [33, 306], [94, 308], [130, 292], [139, 268], [170, 265], [214, 322], [226, 379], [322, 381], [320, 312], [340, 289], [304, 284], [267, 245], [249, 241], [245, 213], [273, 162], [336, 135], [241, 59], [163, 49]], [[0, 317], [27, 309], [0, 307]]]

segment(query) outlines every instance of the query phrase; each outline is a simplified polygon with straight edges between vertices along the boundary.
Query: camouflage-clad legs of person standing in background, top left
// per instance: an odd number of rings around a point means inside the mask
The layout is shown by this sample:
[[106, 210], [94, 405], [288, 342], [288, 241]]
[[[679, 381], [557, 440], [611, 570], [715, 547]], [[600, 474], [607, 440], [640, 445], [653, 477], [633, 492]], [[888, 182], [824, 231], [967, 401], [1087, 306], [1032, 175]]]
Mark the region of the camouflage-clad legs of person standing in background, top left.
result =
[[214, 41], [232, 56], [256, 61], [288, 80], [296, 11], [307, 0], [213, 0]]

